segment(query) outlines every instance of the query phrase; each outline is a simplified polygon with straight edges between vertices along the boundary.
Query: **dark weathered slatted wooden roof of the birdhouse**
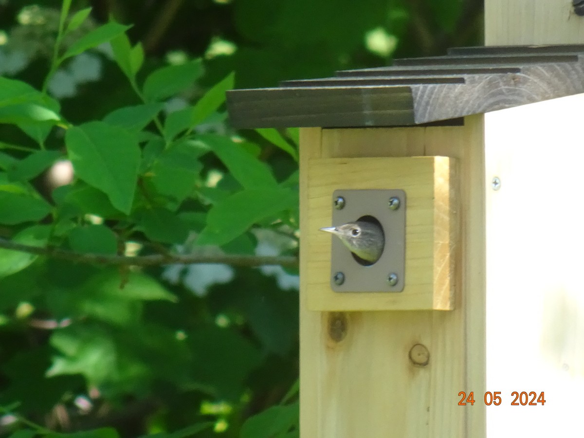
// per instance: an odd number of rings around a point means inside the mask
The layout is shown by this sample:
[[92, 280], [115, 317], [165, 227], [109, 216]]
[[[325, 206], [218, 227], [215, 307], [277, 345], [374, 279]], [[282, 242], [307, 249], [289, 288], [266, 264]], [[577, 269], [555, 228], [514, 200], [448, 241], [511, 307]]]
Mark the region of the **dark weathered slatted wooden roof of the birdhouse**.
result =
[[232, 124], [369, 127], [452, 123], [470, 114], [584, 92], [584, 44], [451, 48], [392, 67], [227, 92]]

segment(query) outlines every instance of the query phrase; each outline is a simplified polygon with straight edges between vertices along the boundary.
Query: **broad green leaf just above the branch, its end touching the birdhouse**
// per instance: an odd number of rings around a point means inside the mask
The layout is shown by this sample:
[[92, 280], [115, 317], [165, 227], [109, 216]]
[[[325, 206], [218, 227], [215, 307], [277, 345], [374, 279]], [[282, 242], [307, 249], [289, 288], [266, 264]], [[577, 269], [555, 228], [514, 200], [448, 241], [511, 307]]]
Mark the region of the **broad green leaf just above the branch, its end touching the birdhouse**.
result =
[[211, 207], [197, 244], [227, 244], [253, 224], [297, 205], [298, 193], [290, 189], [252, 189], [232, 194]]

